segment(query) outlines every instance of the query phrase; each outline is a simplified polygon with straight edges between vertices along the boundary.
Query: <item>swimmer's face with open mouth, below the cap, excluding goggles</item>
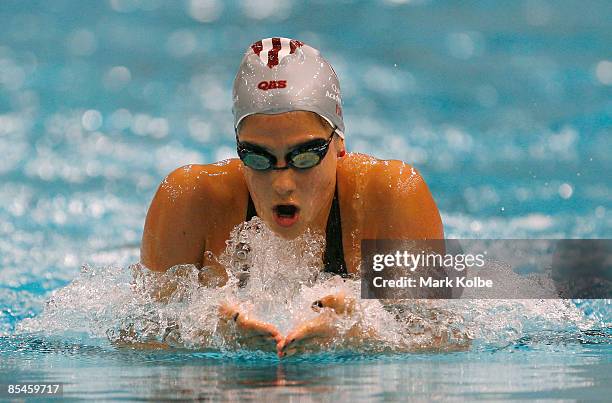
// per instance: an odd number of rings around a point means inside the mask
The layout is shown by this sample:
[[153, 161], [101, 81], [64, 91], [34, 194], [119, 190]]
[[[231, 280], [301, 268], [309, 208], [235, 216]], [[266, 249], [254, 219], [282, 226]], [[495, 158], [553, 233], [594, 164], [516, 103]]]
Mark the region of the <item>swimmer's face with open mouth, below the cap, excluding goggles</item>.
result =
[[[284, 167], [287, 153], [313, 140], [327, 140], [331, 133], [332, 127], [315, 113], [295, 111], [248, 116], [238, 138], [265, 149], [276, 157], [276, 167]], [[327, 154], [312, 168], [257, 171], [245, 167], [257, 215], [287, 239], [307, 228], [324, 233], [336, 184], [336, 161], [343, 150], [343, 140], [334, 135]]]

